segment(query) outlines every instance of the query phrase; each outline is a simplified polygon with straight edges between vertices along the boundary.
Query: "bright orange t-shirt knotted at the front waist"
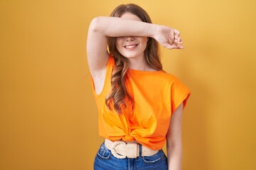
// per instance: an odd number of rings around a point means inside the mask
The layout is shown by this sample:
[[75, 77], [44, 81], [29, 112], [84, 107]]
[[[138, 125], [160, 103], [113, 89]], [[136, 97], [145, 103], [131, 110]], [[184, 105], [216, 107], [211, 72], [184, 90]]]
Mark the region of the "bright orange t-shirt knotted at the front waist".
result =
[[107, 62], [105, 84], [100, 94], [93, 93], [98, 108], [100, 136], [112, 141], [137, 140], [151, 149], [162, 149], [169, 129], [171, 114], [190, 95], [189, 89], [176, 77], [164, 71], [145, 72], [134, 69], [127, 71], [127, 90], [134, 99], [134, 108], [124, 113], [110, 111], [105, 98], [111, 91], [111, 76], [114, 58], [110, 55]]

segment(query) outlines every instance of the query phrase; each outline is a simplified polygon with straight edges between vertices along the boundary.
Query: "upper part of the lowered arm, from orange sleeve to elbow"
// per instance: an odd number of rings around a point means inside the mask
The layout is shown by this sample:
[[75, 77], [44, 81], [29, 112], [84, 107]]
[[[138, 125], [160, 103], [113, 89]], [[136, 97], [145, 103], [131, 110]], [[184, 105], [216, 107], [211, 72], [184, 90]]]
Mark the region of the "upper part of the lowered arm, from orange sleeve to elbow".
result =
[[181, 122], [182, 122], [183, 103], [171, 115], [169, 130], [166, 135], [167, 147], [181, 145]]

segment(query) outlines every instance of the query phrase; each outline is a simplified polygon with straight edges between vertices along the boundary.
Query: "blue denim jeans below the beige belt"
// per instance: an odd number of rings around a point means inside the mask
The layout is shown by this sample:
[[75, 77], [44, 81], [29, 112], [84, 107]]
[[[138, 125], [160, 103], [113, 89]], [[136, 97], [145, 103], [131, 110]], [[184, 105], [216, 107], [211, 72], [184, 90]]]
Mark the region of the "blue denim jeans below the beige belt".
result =
[[95, 170], [166, 170], [167, 157], [163, 150], [159, 150], [150, 157], [137, 157], [135, 159], [118, 159], [111, 154], [104, 143], [100, 146], [94, 162]]

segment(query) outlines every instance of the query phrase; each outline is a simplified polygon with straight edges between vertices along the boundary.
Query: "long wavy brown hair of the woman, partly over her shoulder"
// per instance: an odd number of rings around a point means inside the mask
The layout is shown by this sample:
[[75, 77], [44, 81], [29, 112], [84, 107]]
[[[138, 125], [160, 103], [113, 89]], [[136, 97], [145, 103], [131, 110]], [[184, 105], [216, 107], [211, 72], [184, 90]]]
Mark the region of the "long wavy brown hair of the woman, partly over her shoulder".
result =
[[[136, 4], [122, 4], [117, 6], [117, 8], [112, 11], [110, 16], [112, 17], [122, 17], [124, 13], [133, 13], [138, 16], [142, 22], [151, 23], [151, 19], [149, 15], [144, 11], [143, 8], [137, 6]], [[127, 103], [125, 101], [129, 101], [131, 107], [134, 106], [134, 101], [132, 96], [127, 91], [125, 86], [125, 81], [127, 79], [127, 69], [129, 67], [129, 62], [126, 57], [121, 55], [116, 47], [116, 38], [108, 37], [107, 43], [109, 47], [110, 54], [114, 57], [115, 67], [112, 72], [111, 78], [111, 87], [112, 90], [110, 94], [105, 99], [105, 103], [107, 107], [114, 110], [117, 113], [122, 113], [122, 109], [127, 108]], [[149, 67], [162, 70], [162, 65], [159, 57], [159, 44], [154, 38], [149, 38], [147, 41], [146, 49], [144, 50], [144, 57], [146, 60], [146, 64]], [[124, 99], [127, 99], [124, 101]], [[113, 105], [113, 106], [112, 106]]]

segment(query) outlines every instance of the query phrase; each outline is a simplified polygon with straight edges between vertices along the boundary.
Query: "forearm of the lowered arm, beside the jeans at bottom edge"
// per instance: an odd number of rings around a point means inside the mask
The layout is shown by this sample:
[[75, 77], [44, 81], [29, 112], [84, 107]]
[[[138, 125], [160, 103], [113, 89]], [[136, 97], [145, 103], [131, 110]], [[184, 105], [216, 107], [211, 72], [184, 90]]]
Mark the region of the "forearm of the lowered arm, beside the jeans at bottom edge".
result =
[[168, 169], [182, 169], [182, 146], [167, 147]]

